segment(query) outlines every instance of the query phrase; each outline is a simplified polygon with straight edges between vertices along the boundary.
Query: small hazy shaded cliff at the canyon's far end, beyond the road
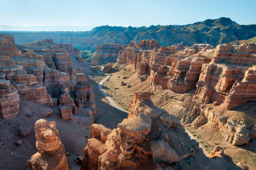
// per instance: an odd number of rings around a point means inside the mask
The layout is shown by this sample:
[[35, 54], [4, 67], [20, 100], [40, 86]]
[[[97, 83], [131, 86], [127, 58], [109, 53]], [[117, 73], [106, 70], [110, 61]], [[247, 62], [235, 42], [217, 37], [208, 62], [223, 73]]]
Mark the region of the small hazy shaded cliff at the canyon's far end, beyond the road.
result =
[[118, 52], [122, 48], [121, 44], [98, 45], [96, 55], [92, 59], [92, 64], [102, 64], [104, 62], [114, 62], [118, 57]]

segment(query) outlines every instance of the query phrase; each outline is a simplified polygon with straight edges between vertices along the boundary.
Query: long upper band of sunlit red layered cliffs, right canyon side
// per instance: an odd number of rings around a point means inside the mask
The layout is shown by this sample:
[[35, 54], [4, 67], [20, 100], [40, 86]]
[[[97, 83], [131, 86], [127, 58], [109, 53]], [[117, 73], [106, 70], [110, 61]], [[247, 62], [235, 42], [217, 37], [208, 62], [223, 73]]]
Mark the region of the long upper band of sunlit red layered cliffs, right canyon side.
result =
[[196, 89], [195, 97], [200, 103], [226, 103], [227, 109], [232, 110], [255, 101], [255, 55], [253, 44], [213, 48], [207, 44], [184, 46], [180, 43], [150, 50], [130, 43], [120, 50], [116, 61], [133, 64], [138, 77], [147, 74], [156, 89], [174, 92]]

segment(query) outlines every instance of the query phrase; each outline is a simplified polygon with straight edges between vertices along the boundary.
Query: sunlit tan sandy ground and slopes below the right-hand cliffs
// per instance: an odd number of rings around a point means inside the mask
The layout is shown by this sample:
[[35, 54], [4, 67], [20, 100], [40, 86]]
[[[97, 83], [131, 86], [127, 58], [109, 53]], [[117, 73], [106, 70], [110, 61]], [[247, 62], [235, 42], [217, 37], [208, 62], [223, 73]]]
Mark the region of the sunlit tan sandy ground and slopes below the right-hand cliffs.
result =
[[[121, 85], [124, 81], [125, 85]], [[175, 93], [172, 90], [153, 90], [150, 87], [150, 81], [141, 82], [134, 72], [133, 67], [127, 65], [114, 64], [114, 69], [109, 73], [108, 79], [103, 83], [105, 92], [111, 96], [116, 103], [122, 108], [128, 110], [129, 103], [131, 102], [134, 92], [138, 91], [150, 91], [154, 93], [152, 101], [156, 106], [163, 108], [169, 113], [172, 113], [173, 108], [170, 104], [173, 99], [183, 97], [190, 99], [193, 97], [195, 91], [191, 90], [187, 93]], [[95, 90], [96, 91], [96, 90]], [[186, 99], [184, 100], [186, 101]], [[196, 101], [194, 102], [196, 104]], [[205, 104], [204, 107], [209, 107], [210, 110], [221, 111], [225, 115], [236, 115], [236, 119], [240, 120], [242, 117], [253, 115], [255, 110], [255, 103], [245, 104], [243, 107], [237, 108], [236, 110], [226, 110], [222, 104], [220, 106], [213, 106], [212, 104]], [[232, 113], [236, 114], [232, 114]], [[177, 115], [175, 115], [177, 116]], [[186, 118], [182, 117], [183, 120], [189, 120], [189, 115]], [[250, 120], [248, 120], [250, 121]], [[182, 121], [186, 122], [186, 121]], [[234, 146], [223, 138], [220, 137], [218, 127], [212, 122], [202, 125], [199, 128], [195, 128], [191, 123], [183, 123], [184, 127], [193, 135], [193, 137], [200, 143], [200, 146], [204, 148], [207, 153], [211, 153], [215, 146], [221, 146], [224, 149], [225, 154], [230, 157], [235, 163], [244, 162], [250, 169], [256, 169], [256, 140], [251, 140], [248, 145]]]

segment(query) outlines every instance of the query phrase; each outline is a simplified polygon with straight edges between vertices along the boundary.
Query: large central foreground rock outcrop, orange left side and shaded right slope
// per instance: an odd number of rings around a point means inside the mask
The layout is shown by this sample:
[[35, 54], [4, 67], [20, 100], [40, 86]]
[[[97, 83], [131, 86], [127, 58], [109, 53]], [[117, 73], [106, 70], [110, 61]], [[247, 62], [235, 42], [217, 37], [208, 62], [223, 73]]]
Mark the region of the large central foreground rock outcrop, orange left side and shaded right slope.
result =
[[[178, 118], [154, 106], [151, 95], [135, 93], [128, 118], [116, 129], [92, 125], [82, 169], [202, 169], [202, 165], [220, 168], [230, 164], [224, 157], [217, 164], [214, 161], [219, 160], [206, 157]], [[188, 157], [193, 157], [193, 164], [186, 163]]]

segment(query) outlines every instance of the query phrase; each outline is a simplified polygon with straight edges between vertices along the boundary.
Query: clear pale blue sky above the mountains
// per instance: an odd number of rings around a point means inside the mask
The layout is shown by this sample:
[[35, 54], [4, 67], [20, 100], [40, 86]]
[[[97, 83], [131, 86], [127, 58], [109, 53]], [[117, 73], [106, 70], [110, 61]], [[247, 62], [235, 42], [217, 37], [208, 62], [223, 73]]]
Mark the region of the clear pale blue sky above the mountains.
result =
[[184, 25], [228, 17], [256, 24], [256, 0], [0, 0], [0, 30], [88, 31], [100, 25]]

